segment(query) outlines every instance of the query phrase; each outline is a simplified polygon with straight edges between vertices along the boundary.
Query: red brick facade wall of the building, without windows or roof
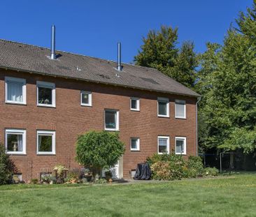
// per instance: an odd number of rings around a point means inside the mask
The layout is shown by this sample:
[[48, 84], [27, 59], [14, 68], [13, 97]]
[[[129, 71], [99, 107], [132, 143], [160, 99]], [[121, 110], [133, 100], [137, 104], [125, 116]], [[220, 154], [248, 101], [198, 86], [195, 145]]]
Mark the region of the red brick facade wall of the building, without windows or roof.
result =
[[[21, 77], [27, 80], [27, 105], [5, 103], [4, 77]], [[36, 81], [54, 82], [56, 108], [36, 106]], [[80, 90], [92, 91], [92, 107], [80, 106]], [[130, 97], [141, 98], [140, 112], [130, 110]], [[157, 117], [157, 97], [169, 98], [169, 118]], [[187, 119], [175, 119], [174, 100], [186, 100]], [[57, 163], [78, 167], [75, 154], [76, 137], [88, 130], [104, 129], [104, 109], [120, 110], [120, 138], [126, 144], [123, 157], [123, 174], [136, 169], [147, 156], [157, 152], [157, 135], [169, 135], [170, 150], [174, 149], [175, 136], [187, 137], [187, 156], [195, 154], [195, 103], [196, 98], [176, 96], [153, 91], [141, 91], [66, 80], [10, 70], [0, 70], [0, 142], [4, 142], [5, 128], [27, 130], [27, 155], [12, 156], [29, 181], [38, 178], [43, 170], [51, 170]], [[36, 155], [36, 130], [56, 130], [56, 155]], [[130, 151], [130, 137], [140, 137], [141, 151]]]

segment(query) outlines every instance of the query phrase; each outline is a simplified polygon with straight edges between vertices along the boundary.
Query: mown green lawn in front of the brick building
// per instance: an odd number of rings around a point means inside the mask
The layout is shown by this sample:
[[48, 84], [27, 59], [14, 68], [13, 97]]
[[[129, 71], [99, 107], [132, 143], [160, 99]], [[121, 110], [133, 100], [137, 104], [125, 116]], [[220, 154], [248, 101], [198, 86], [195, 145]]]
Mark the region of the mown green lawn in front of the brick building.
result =
[[256, 174], [112, 186], [0, 186], [0, 216], [256, 216]]

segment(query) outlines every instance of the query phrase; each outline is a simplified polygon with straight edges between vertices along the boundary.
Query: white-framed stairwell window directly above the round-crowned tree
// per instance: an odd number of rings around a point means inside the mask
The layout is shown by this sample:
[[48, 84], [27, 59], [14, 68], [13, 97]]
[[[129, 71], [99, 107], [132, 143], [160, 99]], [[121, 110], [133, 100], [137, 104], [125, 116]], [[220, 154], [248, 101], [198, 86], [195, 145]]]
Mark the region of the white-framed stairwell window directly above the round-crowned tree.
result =
[[119, 130], [119, 112], [105, 110], [105, 130]]

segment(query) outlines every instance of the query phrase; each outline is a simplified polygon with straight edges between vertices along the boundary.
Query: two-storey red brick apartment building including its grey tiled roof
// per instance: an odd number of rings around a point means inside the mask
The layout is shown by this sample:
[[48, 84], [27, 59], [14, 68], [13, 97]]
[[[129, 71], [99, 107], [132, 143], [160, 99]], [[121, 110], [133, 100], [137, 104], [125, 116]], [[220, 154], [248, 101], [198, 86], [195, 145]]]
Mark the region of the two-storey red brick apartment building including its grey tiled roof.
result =
[[197, 154], [199, 94], [153, 68], [52, 47], [0, 40], [0, 142], [24, 181], [79, 167], [76, 138], [88, 130], [120, 132], [118, 178], [153, 153]]

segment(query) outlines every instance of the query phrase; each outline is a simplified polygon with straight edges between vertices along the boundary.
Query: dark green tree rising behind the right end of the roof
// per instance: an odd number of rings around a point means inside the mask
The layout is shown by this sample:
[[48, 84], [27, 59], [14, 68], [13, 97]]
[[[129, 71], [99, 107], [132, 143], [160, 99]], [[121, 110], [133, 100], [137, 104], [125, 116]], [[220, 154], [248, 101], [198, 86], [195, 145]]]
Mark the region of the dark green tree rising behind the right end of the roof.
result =
[[194, 44], [185, 42], [180, 49], [178, 29], [162, 26], [160, 31], [150, 30], [143, 37], [141, 51], [134, 57], [136, 65], [156, 68], [187, 87], [194, 87], [198, 61]]

